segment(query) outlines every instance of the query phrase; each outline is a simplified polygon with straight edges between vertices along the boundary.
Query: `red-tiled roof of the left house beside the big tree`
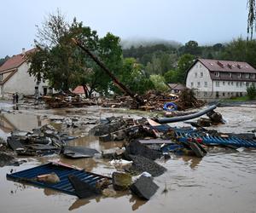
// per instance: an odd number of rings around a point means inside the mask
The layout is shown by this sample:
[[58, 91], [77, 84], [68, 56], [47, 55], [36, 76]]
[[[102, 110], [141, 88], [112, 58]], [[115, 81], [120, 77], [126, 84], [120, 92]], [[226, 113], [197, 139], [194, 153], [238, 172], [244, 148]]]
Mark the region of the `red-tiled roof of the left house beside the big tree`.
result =
[[6, 60], [2, 66], [0, 66], [0, 72], [4, 72], [7, 70], [15, 69], [22, 65], [26, 60], [26, 55], [34, 51], [35, 49], [30, 49], [25, 52], [25, 55], [19, 54], [14, 55], [13, 57], [9, 58], [9, 60]]

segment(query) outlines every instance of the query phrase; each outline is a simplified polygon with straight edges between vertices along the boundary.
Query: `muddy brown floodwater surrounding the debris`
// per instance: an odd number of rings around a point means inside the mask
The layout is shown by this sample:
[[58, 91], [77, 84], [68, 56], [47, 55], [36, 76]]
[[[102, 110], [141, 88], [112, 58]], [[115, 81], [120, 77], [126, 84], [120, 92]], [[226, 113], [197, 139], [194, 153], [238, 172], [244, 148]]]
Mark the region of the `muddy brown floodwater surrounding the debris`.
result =
[[[218, 108], [217, 111], [223, 114], [227, 124], [212, 129], [236, 133], [256, 129], [255, 107], [224, 107]], [[15, 128], [20, 125], [20, 130], [46, 124], [49, 119], [45, 117], [45, 113], [62, 116], [67, 112], [1, 114], [2, 135], [12, 130], [10, 124]], [[81, 116], [88, 116], [90, 113], [99, 116], [93, 110], [80, 112]], [[107, 112], [102, 114], [108, 115]], [[113, 114], [115, 113], [110, 113]], [[31, 117], [28, 119], [26, 116]], [[9, 125], [6, 120], [9, 120]], [[94, 136], [84, 136], [71, 144], [97, 150], [121, 146], [121, 142], [101, 143]], [[154, 178], [160, 188], [148, 202], [137, 199], [129, 192], [117, 193], [114, 198], [78, 199], [54, 190], [6, 180], [6, 174], [11, 170], [25, 170], [56, 158], [59, 157], [55, 155], [26, 158], [27, 163], [19, 167], [0, 168], [0, 212], [256, 212], [256, 150], [226, 152], [223, 149], [215, 149], [202, 159], [175, 155], [167, 161], [160, 159], [158, 163], [165, 166], [167, 171], [164, 175]], [[103, 175], [110, 175], [114, 170], [107, 160], [102, 159], [61, 158], [61, 161]], [[163, 193], [165, 188], [167, 192]]]

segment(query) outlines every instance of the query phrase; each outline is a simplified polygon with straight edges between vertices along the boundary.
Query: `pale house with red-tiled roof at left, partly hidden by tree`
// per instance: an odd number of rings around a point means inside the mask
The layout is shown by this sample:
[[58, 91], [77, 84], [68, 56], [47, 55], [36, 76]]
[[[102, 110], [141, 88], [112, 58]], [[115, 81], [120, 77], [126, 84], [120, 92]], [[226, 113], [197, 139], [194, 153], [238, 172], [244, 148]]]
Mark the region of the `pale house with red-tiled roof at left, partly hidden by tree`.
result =
[[19, 55], [14, 55], [0, 66], [0, 95], [11, 95], [15, 92], [23, 95], [46, 95], [49, 92], [48, 83], [39, 83], [36, 78], [27, 72], [29, 64], [26, 55], [35, 51], [30, 49]]

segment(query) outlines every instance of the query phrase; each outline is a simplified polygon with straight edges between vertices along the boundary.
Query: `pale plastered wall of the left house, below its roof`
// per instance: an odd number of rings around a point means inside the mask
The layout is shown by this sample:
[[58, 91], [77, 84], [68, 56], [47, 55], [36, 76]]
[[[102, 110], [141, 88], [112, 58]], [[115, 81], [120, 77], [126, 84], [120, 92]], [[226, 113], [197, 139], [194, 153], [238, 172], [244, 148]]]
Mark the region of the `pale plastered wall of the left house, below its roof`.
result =
[[23, 63], [18, 71], [9, 80], [3, 84], [3, 93], [15, 93], [23, 95], [34, 95], [35, 87], [38, 86], [39, 94], [44, 94], [44, 87], [48, 87], [48, 83], [39, 83], [37, 85], [37, 80], [28, 74], [29, 65]]

